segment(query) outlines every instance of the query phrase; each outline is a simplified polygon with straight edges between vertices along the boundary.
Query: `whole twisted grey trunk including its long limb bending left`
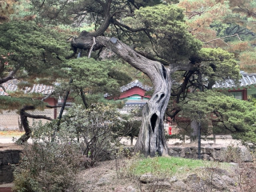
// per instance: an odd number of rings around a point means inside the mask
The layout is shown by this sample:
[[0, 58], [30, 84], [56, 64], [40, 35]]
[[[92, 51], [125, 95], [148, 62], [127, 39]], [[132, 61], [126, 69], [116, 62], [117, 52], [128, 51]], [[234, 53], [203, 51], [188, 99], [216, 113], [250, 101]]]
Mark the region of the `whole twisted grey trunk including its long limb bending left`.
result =
[[160, 62], [152, 61], [136, 53], [130, 46], [120, 42], [117, 38], [99, 36], [96, 38], [96, 42], [98, 45], [110, 48], [131, 66], [141, 70], [150, 78], [154, 85], [154, 94], [142, 110], [142, 126], [135, 151], [151, 157], [167, 154], [163, 119], [170, 98], [170, 69]]

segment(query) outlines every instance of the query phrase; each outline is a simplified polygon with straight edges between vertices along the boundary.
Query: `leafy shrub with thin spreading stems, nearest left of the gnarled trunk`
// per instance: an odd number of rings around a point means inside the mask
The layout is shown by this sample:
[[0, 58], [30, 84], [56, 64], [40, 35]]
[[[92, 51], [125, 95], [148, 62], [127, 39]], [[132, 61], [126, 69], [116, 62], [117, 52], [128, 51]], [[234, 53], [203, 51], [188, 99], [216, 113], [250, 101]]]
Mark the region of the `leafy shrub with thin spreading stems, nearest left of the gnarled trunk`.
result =
[[113, 106], [100, 103], [88, 109], [77, 105], [70, 108], [64, 121], [75, 131], [82, 154], [90, 158], [87, 166], [94, 166], [95, 162], [105, 159], [118, 145], [118, 137], [123, 131], [119, 115]]

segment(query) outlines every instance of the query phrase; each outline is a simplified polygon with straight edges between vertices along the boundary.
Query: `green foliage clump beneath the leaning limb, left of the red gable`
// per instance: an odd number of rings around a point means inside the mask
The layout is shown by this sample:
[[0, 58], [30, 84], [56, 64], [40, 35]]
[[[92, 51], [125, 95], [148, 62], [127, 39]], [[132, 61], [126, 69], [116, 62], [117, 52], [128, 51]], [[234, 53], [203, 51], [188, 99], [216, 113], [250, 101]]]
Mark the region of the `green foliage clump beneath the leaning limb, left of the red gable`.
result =
[[[117, 66], [118, 61], [96, 61], [94, 58], [78, 58], [67, 60], [66, 74], [73, 79], [70, 89], [72, 98], [82, 98], [83, 104], [88, 107], [95, 102], [110, 102], [104, 99], [118, 98], [120, 86], [125, 86], [131, 78]], [[78, 102], [78, 100], [76, 100]]]

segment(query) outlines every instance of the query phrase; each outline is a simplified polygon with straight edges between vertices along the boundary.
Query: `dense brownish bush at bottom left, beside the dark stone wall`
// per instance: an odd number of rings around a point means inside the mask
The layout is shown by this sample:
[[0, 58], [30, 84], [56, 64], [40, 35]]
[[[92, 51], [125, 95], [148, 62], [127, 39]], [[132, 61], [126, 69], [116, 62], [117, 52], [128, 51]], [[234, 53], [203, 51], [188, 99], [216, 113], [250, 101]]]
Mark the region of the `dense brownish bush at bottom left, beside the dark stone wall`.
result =
[[69, 127], [52, 140], [55, 124], [34, 125], [32, 144], [25, 144], [22, 159], [14, 170], [14, 191], [64, 191], [73, 188], [82, 165], [82, 154]]

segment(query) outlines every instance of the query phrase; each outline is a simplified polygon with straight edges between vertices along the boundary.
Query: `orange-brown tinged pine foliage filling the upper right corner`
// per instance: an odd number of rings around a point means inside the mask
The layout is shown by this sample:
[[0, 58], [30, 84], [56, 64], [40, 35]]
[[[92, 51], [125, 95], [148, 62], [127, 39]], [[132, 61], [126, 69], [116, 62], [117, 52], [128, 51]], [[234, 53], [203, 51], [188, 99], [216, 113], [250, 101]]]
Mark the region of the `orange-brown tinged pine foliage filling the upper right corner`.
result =
[[178, 5], [186, 9], [190, 31], [204, 46], [230, 51], [242, 70], [254, 72], [254, 1], [181, 0]]

